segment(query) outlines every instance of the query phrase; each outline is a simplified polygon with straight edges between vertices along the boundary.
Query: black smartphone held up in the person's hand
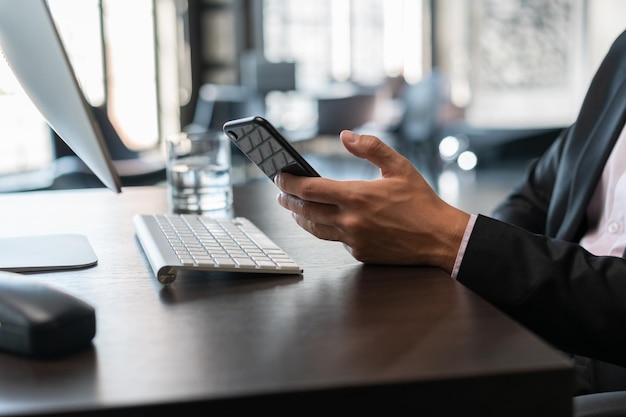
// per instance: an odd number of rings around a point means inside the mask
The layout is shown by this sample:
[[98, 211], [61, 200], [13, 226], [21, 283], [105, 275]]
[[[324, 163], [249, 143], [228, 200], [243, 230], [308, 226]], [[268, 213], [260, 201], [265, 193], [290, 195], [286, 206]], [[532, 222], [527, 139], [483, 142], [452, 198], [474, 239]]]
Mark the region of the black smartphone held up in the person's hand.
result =
[[272, 181], [279, 172], [307, 177], [320, 176], [263, 117], [251, 116], [226, 122], [224, 133]]

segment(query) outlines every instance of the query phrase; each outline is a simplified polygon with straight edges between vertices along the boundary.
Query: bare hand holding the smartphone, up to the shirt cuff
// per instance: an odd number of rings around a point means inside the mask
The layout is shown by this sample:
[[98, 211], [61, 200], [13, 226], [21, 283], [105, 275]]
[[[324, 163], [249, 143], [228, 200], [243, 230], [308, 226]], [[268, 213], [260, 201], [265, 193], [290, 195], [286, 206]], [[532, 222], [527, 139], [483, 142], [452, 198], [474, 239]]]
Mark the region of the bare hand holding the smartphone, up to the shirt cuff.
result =
[[469, 215], [444, 202], [404, 156], [370, 135], [343, 131], [346, 149], [380, 169], [373, 181], [280, 173], [278, 202], [320, 239], [365, 263], [432, 265], [451, 273]]

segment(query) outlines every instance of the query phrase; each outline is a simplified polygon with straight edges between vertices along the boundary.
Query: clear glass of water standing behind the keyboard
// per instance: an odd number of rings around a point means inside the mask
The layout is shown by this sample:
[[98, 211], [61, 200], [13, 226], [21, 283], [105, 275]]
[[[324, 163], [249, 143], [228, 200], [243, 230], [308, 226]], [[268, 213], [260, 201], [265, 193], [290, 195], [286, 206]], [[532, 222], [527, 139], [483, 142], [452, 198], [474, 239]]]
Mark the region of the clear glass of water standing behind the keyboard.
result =
[[167, 182], [174, 213], [228, 210], [233, 203], [230, 140], [219, 131], [166, 139]]

